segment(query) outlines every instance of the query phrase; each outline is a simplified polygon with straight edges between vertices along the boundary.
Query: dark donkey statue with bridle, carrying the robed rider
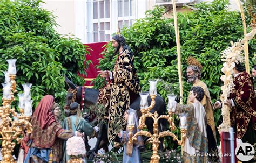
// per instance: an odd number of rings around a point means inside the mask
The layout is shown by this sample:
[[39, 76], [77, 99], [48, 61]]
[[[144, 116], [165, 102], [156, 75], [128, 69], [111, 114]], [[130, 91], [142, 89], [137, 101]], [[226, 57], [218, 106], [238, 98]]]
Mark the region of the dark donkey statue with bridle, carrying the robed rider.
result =
[[[68, 79], [68, 77], [65, 76], [65, 82], [68, 84], [68, 94], [66, 96], [66, 104], [64, 107], [64, 111], [66, 116], [69, 115], [69, 105], [72, 102], [77, 102], [81, 104], [81, 108], [90, 108], [91, 105], [95, 105], [98, 100], [99, 90], [92, 89], [92, 88], [85, 88], [84, 86], [77, 86], [72, 81]], [[148, 97], [147, 99], [148, 103], [151, 103], [151, 98]], [[140, 117], [142, 114], [140, 112], [140, 96], [138, 96], [133, 103], [130, 104], [130, 108], [137, 110], [137, 114]], [[106, 108], [107, 109], [107, 108]], [[151, 112], [157, 111], [159, 115], [163, 115], [166, 113], [166, 105], [164, 98], [160, 95], [157, 95], [156, 97], [156, 104], [152, 108]], [[161, 119], [160, 119], [161, 120]], [[159, 131], [166, 131], [167, 130], [167, 121], [159, 121]], [[145, 124], [147, 125], [147, 129], [153, 134], [153, 119], [152, 118], [146, 118]], [[147, 138], [145, 138], [144, 141], [146, 141]], [[163, 140], [161, 139], [161, 143], [159, 146], [159, 149], [163, 149]], [[85, 140], [86, 141], [86, 140]], [[86, 142], [85, 142], [86, 144]], [[95, 147], [90, 151], [92, 154], [90, 155], [89, 159], [93, 158], [93, 155], [98, 152], [100, 148], [103, 148], [105, 152], [108, 152], [107, 145], [109, 144], [107, 139], [107, 126], [105, 124], [99, 125], [99, 133], [97, 136], [97, 142]], [[90, 153], [89, 152], [89, 153]]]

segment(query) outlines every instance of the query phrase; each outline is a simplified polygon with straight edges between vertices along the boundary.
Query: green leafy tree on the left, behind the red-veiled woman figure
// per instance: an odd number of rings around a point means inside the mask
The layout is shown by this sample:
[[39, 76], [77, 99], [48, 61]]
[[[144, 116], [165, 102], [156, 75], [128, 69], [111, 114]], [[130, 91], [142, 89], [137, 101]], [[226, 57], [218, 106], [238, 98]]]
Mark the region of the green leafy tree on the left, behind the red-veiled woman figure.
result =
[[[78, 39], [62, 37], [55, 31], [55, 16], [40, 7], [42, 1], [0, 2], [0, 82], [8, 69], [6, 59], [17, 59], [17, 90], [22, 83], [32, 83], [36, 107], [42, 96], [50, 94], [64, 103], [66, 89], [63, 75], [83, 84], [77, 75], [85, 75], [90, 61], [87, 47]], [[0, 91], [2, 98], [2, 91]]]

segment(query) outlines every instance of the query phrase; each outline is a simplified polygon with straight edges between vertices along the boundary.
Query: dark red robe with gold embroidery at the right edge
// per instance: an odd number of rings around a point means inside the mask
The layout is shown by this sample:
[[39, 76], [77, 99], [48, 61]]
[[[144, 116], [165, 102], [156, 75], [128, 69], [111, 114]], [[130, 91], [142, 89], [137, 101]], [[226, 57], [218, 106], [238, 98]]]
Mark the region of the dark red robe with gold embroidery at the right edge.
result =
[[248, 143], [256, 141], [256, 98], [252, 77], [241, 72], [233, 80], [234, 88], [230, 94], [235, 107], [230, 114], [231, 127], [237, 131], [237, 137]]

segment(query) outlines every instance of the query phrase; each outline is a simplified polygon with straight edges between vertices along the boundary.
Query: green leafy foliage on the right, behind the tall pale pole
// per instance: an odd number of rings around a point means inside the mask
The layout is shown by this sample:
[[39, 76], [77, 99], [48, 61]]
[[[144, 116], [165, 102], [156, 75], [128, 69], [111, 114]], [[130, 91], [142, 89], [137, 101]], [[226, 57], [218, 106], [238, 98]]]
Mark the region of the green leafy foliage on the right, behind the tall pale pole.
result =
[[[240, 13], [227, 10], [227, 3], [228, 1], [222, 0], [200, 3], [194, 6], [197, 10], [178, 13], [184, 81], [183, 103], [186, 103], [191, 89], [191, 84], [188, 84], [185, 78], [188, 56], [194, 56], [203, 65], [201, 80], [207, 84], [212, 102], [215, 102], [221, 94], [220, 86], [223, 83], [220, 75], [223, 62], [220, 53], [230, 46], [230, 41], [235, 42], [244, 38]], [[174, 21], [173, 18], [161, 17], [164, 12], [165, 9], [159, 6], [146, 11], [145, 18], [136, 20], [131, 27], [124, 27], [121, 33], [126, 43], [133, 49], [134, 65], [137, 68], [142, 91], [149, 90], [147, 80], [162, 79], [164, 83], [158, 83], [158, 93], [167, 100], [166, 95], [170, 92], [179, 95], [179, 81]], [[250, 26], [248, 26], [249, 30]], [[255, 44], [255, 39], [249, 41], [251, 65], [253, 53], [256, 51]], [[100, 59], [100, 69], [111, 70], [114, 67], [117, 56], [112, 56], [113, 51], [110, 42], [103, 52], [104, 58]], [[166, 84], [171, 86], [171, 90], [166, 89]], [[102, 79], [97, 78], [95, 86], [100, 88], [103, 85]], [[221, 123], [220, 115], [220, 109], [214, 110], [216, 126]], [[180, 134], [177, 132], [177, 135]], [[167, 144], [166, 146], [173, 147], [173, 141], [170, 140]]]

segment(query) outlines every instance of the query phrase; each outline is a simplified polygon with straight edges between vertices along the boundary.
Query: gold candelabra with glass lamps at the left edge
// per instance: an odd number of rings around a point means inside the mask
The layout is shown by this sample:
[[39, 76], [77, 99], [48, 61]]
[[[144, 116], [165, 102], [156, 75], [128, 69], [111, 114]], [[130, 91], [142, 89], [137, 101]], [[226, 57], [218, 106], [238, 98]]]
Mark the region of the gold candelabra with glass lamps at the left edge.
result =
[[[5, 83], [3, 85], [3, 106], [0, 107], [0, 134], [2, 138], [2, 158], [1, 162], [15, 162], [12, 157], [14, 152], [15, 142], [21, 143], [22, 136], [24, 136], [24, 130], [27, 133], [32, 132], [32, 125], [30, 124], [30, 116], [32, 115], [32, 100], [29, 89], [24, 87], [24, 94], [19, 94], [19, 110], [20, 114], [15, 111], [15, 108], [11, 108], [11, 103], [15, 101], [14, 93], [16, 90], [16, 59], [7, 60], [9, 63], [8, 72], [5, 74]], [[27, 85], [27, 84], [26, 84]]]

